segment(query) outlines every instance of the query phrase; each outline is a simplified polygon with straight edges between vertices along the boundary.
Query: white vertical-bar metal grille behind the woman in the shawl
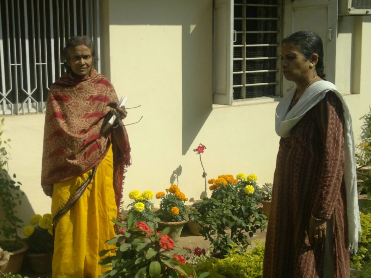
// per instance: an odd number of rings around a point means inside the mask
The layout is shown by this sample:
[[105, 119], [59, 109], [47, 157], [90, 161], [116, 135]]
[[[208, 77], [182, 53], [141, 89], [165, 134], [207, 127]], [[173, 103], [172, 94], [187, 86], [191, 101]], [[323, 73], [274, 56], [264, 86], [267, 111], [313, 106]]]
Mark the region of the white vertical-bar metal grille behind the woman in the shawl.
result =
[[98, 27], [99, 0], [0, 0], [1, 113], [43, 113], [66, 41], [87, 35], [99, 55]]

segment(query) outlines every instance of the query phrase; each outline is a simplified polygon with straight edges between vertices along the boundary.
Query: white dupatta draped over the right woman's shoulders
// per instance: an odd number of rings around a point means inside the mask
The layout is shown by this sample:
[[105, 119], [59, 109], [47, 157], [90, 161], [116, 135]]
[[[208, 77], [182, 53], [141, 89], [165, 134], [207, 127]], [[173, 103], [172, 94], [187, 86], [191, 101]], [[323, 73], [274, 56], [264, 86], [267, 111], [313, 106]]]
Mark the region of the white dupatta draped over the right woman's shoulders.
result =
[[348, 230], [350, 252], [356, 253], [358, 250], [358, 241], [361, 232], [358, 192], [357, 192], [357, 175], [355, 163], [355, 147], [352, 129], [352, 120], [348, 106], [345, 103], [343, 95], [339, 92], [334, 84], [328, 81], [317, 81], [309, 86], [295, 106], [289, 111], [289, 107], [294, 97], [296, 88], [293, 88], [280, 101], [276, 108], [276, 133], [281, 137], [289, 137], [291, 128], [308, 112], [314, 105], [321, 101], [328, 91], [333, 91], [340, 99], [344, 111], [344, 148], [345, 148], [345, 188], [348, 215]]

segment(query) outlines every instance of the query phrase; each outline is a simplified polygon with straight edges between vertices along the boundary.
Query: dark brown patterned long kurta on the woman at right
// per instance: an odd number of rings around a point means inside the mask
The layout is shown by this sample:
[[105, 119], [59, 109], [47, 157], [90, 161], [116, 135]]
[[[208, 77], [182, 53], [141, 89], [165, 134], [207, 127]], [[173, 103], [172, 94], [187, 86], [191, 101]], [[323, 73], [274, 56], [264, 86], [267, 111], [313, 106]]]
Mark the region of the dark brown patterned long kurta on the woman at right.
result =
[[[268, 223], [263, 277], [349, 277], [342, 103], [333, 92], [281, 138]], [[310, 244], [309, 220], [333, 219], [334, 265], [323, 265], [324, 242]]]

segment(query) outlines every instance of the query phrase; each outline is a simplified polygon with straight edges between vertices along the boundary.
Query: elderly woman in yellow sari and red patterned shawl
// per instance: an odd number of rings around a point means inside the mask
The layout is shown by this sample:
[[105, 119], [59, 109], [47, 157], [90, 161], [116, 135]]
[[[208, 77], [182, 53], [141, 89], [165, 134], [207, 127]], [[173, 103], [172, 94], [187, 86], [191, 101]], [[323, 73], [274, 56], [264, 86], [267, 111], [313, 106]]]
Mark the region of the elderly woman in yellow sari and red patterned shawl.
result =
[[[113, 86], [94, 69], [88, 37], [73, 37], [63, 51], [67, 72], [51, 87], [45, 115], [41, 184], [52, 197], [53, 278], [98, 277], [98, 253], [115, 236], [111, 219], [120, 206], [130, 165], [128, 134]], [[107, 117], [116, 115], [102, 133]]]

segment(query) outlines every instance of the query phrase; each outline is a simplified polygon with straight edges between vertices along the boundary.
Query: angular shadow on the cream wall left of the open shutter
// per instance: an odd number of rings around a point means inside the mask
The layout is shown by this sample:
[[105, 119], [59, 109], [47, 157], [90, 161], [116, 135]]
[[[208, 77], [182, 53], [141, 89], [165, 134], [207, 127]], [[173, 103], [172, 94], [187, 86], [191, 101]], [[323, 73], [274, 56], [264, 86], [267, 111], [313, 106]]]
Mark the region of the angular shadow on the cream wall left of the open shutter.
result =
[[[212, 111], [212, 0], [109, 3], [114, 7], [109, 8], [110, 25], [182, 26], [182, 154], [185, 155]], [[173, 44], [171, 38], [168, 43]]]

